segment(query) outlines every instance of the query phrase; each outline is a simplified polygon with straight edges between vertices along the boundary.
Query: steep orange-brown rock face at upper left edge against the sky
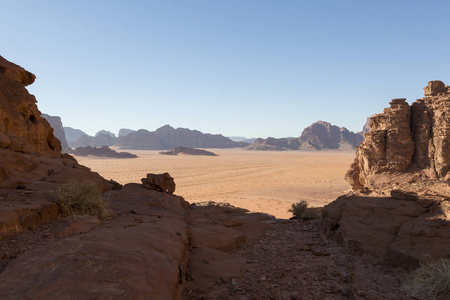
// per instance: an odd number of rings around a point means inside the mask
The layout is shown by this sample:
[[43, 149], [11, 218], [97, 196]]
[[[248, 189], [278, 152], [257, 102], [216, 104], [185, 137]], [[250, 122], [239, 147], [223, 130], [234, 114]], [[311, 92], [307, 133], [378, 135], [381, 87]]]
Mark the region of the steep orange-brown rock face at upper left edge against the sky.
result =
[[0, 56], [0, 148], [61, 156], [61, 143], [25, 88], [35, 76]]

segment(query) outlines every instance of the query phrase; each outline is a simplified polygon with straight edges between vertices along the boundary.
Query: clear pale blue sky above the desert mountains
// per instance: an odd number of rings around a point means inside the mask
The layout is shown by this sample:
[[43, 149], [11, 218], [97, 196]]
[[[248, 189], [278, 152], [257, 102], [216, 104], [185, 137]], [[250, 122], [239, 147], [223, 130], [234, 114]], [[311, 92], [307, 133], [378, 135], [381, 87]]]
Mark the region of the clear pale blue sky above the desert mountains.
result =
[[95, 135], [171, 126], [296, 137], [360, 131], [450, 84], [450, 1], [0, 0], [0, 55], [42, 113]]

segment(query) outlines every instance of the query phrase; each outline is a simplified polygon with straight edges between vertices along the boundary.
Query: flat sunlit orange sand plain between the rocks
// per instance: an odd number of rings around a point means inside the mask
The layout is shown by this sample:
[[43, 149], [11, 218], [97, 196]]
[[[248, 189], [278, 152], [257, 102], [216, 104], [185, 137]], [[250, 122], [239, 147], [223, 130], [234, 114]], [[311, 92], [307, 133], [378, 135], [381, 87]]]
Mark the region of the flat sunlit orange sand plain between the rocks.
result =
[[134, 153], [138, 158], [76, 159], [121, 184], [140, 183], [147, 173], [168, 172], [175, 179], [175, 194], [191, 203], [228, 202], [253, 212], [289, 218], [292, 214], [287, 210], [292, 203], [306, 200], [311, 206], [323, 206], [347, 190], [344, 175], [355, 156], [354, 151], [208, 150], [219, 156], [118, 150]]

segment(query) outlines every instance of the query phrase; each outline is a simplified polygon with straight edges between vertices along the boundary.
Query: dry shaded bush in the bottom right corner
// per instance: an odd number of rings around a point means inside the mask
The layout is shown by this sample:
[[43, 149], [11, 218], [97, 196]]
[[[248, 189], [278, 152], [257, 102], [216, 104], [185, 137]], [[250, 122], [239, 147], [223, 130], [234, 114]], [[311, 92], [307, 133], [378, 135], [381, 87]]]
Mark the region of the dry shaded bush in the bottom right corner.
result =
[[402, 289], [417, 299], [450, 299], [450, 259], [427, 263], [409, 273]]

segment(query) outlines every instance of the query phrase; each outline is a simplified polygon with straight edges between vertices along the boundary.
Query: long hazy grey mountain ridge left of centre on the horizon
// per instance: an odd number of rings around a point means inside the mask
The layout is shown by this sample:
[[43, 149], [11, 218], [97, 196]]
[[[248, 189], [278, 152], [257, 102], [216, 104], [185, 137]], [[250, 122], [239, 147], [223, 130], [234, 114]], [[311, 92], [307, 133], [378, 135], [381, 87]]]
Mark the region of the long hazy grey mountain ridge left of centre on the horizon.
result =
[[233, 142], [221, 134], [202, 133], [198, 130], [173, 128], [165, 125], [156, 131], [140, 129], [117, 139], [116, 146], [125, 149], [170, 150], [174, 147], [190, 148], [233, 148], [248, 144]]

